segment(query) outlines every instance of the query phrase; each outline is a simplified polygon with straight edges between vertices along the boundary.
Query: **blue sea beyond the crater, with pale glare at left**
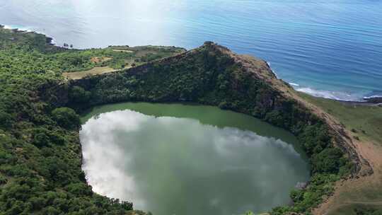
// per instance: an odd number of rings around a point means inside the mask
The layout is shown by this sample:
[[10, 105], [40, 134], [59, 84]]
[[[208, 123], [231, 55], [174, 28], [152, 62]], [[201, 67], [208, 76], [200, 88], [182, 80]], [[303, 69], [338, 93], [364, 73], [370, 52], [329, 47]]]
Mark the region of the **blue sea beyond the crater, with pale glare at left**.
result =
[[1, 0], [0, 24], [76, 48], [212, 40], [265, 59], [311, 95], [382, 96], [379, 0]]

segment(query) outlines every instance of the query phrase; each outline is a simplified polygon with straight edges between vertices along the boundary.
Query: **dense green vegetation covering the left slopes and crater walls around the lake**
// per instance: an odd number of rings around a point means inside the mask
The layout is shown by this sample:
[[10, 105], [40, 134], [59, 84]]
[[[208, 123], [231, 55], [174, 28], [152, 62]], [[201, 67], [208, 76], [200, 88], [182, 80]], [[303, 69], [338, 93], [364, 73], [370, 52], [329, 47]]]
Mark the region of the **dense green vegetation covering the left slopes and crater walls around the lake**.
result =
[[[62, 71], [99, 64], [122, 68], [133, 52], [65, 50], [35, 33], [0, 28], [0, 214], [126, 214], [129, 202], [91, 191], [81, 170], [79, 117], [92, 105], [121, 101], [190, 101], [253, 115], [298, 136], [310, 157], [312, 178], [291, 192], [293, 206], [307, 213], [332, 192], [332, 183], [352, 165], [332, 146], [318, 117], [245, 71], [207, 42], [203, 47], [126, 72], [65, 82]], [[151, 47], [158, 49], [158, 47]], [[93, 57], [112, 57], [92, 62]], [[120, 56], [120, 57], [118, 57]], [[157, 57], [145, 53], [145, 62]]]

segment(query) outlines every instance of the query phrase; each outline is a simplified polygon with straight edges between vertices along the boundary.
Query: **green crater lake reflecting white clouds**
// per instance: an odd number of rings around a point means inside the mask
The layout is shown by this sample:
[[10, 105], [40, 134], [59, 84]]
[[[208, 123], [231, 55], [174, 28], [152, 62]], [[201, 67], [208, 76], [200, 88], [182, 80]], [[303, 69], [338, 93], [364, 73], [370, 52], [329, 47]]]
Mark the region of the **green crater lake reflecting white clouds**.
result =
[[289, 132], [202, 105], [120, 103], [82, 117], [93, 191], [154, 215], [243, 214], [289, 204], [309, 167]]

